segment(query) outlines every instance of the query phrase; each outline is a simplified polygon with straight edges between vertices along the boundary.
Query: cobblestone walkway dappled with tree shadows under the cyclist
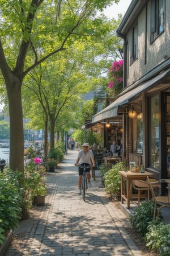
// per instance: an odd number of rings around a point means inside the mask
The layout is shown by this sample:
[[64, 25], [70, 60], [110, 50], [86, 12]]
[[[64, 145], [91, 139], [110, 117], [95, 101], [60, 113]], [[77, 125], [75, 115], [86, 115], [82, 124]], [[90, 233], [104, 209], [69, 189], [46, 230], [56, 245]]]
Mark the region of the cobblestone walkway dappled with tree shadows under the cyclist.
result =
[[48, 195], [40, 218], [33, 226], [28, 222], [18, 228], [25, 239], [22, 255], [141, 256], [124, 229], [129, 223], [125, 215], [105, 197], [99, 171], [91, 179], [86, 202], [76, 194], [77, 154], [69, 150], [57, 170], [46, 176]]

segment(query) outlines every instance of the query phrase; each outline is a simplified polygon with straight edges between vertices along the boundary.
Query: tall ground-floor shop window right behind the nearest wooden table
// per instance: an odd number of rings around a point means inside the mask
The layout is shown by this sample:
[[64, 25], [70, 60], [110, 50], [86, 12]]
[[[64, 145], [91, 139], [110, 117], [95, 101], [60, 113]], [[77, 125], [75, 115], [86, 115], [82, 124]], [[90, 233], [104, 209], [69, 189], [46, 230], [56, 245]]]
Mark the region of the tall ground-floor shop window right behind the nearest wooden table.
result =
[[159, 169], [159, 96], [151, 97], [149, 126], [149, 167]]

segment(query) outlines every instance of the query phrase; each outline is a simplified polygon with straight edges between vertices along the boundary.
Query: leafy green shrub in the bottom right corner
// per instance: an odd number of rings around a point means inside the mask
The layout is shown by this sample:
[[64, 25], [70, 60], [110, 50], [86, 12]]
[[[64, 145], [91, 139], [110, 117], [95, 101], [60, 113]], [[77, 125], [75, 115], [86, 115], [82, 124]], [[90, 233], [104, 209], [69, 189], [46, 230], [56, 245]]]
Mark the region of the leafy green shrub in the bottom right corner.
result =
[[170, 224], [152, 221], [148, 225], [145, 240], [150, 250], [156, 250], [162, 256], [170, 255]]

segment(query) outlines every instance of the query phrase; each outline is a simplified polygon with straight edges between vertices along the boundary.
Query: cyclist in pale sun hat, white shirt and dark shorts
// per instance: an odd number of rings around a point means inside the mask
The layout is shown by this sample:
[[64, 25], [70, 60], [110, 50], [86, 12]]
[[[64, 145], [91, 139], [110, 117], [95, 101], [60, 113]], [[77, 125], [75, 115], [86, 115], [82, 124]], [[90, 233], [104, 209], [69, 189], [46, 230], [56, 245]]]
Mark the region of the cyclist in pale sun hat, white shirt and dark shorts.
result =
[[[81, 164], [85, 164], [88, 166], [92, 162], [92, 167], [95, 167], [95, 159], [92, 150], [90, 150], [90, 145], [88, 143], [83, 143], [83, 150], [80, 150], [78, 153], [78, 158], [76, 159], [75, 166], [78, 165], [79, 161]], [[81, 183], [82, 183], [82, 174], [83, 174], [83, 168], [79, 167], [79, 179], [78, 179], [78, 191], [77, 193], [81, 193]], [[90, 168], [86, 169], [86, 175], [87, 175], [87, 186], [91, 187], [91, 175], [90, 175]]]

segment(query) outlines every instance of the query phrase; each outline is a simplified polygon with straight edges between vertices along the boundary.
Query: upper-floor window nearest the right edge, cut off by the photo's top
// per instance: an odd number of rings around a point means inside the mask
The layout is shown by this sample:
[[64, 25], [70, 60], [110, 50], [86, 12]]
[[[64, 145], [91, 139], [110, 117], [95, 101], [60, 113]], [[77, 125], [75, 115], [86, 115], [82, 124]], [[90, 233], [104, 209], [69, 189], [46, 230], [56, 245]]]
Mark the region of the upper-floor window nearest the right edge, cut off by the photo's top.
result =
[[151, 0], [151, 42], [163, 32], [165, 0]]

